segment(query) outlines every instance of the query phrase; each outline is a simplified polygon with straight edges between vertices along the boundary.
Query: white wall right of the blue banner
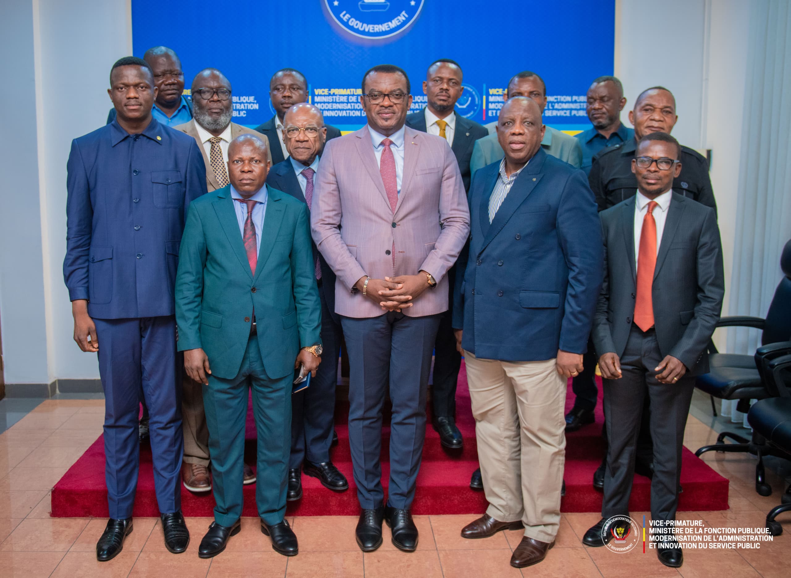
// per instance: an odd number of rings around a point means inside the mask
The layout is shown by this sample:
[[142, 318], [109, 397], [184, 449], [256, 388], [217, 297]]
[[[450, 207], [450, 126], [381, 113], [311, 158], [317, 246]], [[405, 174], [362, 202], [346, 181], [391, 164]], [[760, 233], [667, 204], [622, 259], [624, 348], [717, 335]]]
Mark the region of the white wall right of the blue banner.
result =
[[[629, 99], [626, 108], [643, 89], [665, 86], [676, 97], [679, 115], [673, 136], [691, 148], [712, 150], [710, 176], [725, 260], [723, 315], [729, 314], [750, 10], [743, 0], [615, 3], [615, 76]], [[628, 125], [625, 114], [622, 119]], [[724, 348], [725, 330], [714, 337]]]

